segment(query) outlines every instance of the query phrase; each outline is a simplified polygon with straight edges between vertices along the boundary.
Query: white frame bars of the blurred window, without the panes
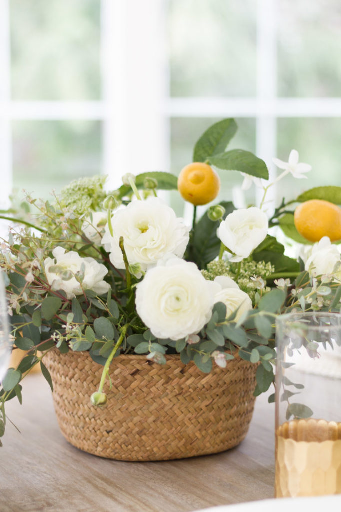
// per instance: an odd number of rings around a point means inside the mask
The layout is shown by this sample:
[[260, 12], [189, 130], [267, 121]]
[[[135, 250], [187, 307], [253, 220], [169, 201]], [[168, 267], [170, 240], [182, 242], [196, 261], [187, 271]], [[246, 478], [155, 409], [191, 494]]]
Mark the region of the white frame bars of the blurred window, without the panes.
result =
[[[278, 118], [341, 117], [341, 98], [276, 96], [274, 0], [257, 0], [255, 98], [169, 97], [166, 1], [101, 0], [102, 99], [12, 101], [9, 2], [0, 2], [0, 208], [8, 204], [12, 188], [13, 120], [102, 121], [102, 173], [108, 175], [108, 187], [115, 188], [127, 172], [169, 169], [171, 118], [255, 118], [256, 154], [271, 176]], [[146, 75], [148, 80], [143, 79]]]

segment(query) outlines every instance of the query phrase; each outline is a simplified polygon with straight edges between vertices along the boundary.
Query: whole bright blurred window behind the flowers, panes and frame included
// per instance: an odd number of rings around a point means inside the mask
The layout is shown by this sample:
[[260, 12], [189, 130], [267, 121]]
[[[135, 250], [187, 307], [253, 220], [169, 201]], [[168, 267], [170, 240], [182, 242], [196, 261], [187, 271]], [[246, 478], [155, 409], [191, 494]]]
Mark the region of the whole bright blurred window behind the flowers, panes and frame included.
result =
[[[295, 148], [309, 186], [339, 184], [339, 27], [338, 0], [2, 0], [0, 207], [12, 186], [49, 197], [79, 176], [113, 188], [178, 173], [224, 117], [239, 125], [231, 147], [272, 175]], [[253, 200], [220, 175], [221, 197]]]

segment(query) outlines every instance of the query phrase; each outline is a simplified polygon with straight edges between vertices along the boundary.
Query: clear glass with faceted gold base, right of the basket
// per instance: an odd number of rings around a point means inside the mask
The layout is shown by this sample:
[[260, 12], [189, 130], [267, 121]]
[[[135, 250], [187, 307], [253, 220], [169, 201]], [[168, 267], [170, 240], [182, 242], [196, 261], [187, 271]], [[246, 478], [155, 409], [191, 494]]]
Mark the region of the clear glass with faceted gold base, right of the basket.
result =
[[276, 319], [275, 496], [341, 494], [341, 315]]

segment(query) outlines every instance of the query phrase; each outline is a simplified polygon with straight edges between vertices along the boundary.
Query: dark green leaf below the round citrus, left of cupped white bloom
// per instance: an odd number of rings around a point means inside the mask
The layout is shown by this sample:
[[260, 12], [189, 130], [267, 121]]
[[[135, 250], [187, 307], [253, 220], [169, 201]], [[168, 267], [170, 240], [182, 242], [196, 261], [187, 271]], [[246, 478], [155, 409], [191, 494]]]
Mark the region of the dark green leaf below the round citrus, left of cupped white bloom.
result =
[[[231, 214], [235, 207], [231, 202], [222, 201], [219, 203], [225, 208], [223, 219]], [[188, 245], [188, 261], [193, 261], [199, 268], [205, 268], [219, 254], [220, 240], [217, 238], [216, 231], [220, 221], [212, 222], [207, 216], [207, 212], [197, 222], [194, 237]]]

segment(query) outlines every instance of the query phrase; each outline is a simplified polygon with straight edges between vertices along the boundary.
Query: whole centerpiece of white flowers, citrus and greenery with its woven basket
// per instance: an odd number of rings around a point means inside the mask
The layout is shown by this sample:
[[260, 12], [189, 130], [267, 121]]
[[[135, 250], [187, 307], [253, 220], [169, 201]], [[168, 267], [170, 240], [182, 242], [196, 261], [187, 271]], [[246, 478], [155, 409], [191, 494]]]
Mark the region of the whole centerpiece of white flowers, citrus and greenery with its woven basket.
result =
[[[277, 315], [340, 310], [330, 239], [341, 239], [341, 187], [270, 208], [268, 189], [310, 166], [293, 150], [288, 162], [274, 159], [282, 173], [267, 183], [265, 162], [226, 150], [236, 130], [233, 119], [209, 127], [178, 178], [128, 174], [113, 191], [105, 177], [84, 178], [52, 202], [28, 196], [2, 212], [13, 223], [0, 241], [11, 335], [26, 355], [2, 382], [0, 436], [6, 402], [21, 402], [21, 381], [40, 363], [63, 435], [89, 453], [176, 459], [244, 438], [255, 397], [274, 382]], [[219, 175], [231, 170], [242, 190], [263, 189], [259, 205], [218, 197]], [[193, 205], [189, 225], [160, 190]], [[309, 204], [294, 215], [294, 203]], [[306, 244], [298, 261], [270, 236], [275, 226]], [[314, 345], [304, 349], [316, 356]], [[292, 394], [283, 393], [288, 407]]]

